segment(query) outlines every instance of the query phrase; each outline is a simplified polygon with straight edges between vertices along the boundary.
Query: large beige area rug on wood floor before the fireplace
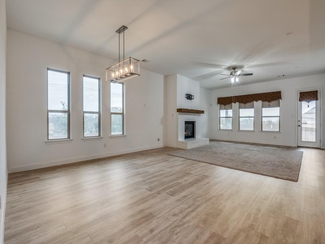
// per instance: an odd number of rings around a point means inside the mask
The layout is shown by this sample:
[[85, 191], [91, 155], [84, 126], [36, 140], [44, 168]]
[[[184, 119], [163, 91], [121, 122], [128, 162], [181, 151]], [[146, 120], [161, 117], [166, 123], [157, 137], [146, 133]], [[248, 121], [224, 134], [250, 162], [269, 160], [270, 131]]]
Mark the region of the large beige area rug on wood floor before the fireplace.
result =
[[267, 146], [210, 142], [169, 155], [280, 179], [298, 181], [303, 152]]

